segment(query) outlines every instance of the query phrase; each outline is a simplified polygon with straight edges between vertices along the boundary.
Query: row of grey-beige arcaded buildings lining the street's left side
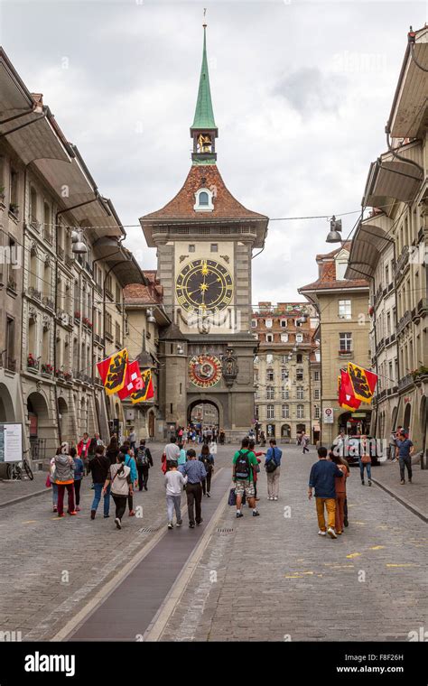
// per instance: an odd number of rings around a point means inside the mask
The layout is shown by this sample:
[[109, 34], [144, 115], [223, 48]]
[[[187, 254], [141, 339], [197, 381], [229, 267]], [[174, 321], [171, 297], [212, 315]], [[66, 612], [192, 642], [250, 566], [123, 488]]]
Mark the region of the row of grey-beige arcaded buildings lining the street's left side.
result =
[[42, 461], [84, 431], [107, 440], [122, 414], [96, 364], [123, 348], [123, 289], [144, 276], [42, 96], [4, 51], [0, 66], [1, 109], [12, 117], [0, 137], [0, 422], [21, 423], [24, 450]]

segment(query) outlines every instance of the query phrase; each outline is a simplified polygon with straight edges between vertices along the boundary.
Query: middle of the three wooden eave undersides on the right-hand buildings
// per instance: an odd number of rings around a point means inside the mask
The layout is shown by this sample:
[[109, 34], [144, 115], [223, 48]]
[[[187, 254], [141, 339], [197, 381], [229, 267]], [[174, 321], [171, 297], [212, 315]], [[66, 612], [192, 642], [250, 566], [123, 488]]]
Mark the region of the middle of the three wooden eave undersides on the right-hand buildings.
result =
[[410, 162], [383, 160], [370, 164], [362, 200], [364, 207], [381, 208], [391, 215], [395, 200], [411, 202], [423, 179], [423, 172]]

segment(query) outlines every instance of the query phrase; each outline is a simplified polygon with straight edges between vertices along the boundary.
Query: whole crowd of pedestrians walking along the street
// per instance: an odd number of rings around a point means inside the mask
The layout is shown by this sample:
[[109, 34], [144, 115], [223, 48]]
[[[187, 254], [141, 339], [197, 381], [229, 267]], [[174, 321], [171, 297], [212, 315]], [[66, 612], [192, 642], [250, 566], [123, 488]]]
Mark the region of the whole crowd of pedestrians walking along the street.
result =
[[[201, 504], [203, 496], [211, 496], [211, 480], [214, 473], [214, 453], [218, 434], [212, 427], [201, 430], [199, 455], [194, 448], [186, 445], [195, 444], [191, 427], [180, 427], [172, 435], [163, 450], [161, 468], [164, 474], [166, 495], [167, 526], [172, 529], [180, 527], [181, 495], [185, 491], [189, 526], [194, 528], [202, 522]], [[359, 470], [361, 484], [371, 486], [371, 457], [368, 437], [361, 436]], [[349, 462], [345, 457], [343, 445], [346, 435], [343, 431], [334, 440], [331, 450], [318, 447], [318, 461], [312, 465], [308, 484], [308, 497], [315, 497], [319, 535], [337, 538], [344, 533], [348, 522], [347, 479]], [[309, 450], [302, 434], [300, 445], [303, 453]], [[405, 469], [409, 483], [412, 482], [412, 453], [414, 446], [403, 427], [398, 427], [394, 438], [394, 459], [400, 463], [401, 484], [405, 484]], [[306, 449], [306, 450], [305, 450]], [[254, 517], [259, 516], [257, 509], [257, 480], [261, 471], [262, 459], [266, 473], [267, 499], [277, 501], [281, 475], [282, 450], [276, 440], [269, 440], [266, 451], [256, 450], [256, 435], [250, 431], [242, 440], [241, 447], [232, 459], [232, 481], [234, 487], [229, 494], [229, 504], [236, 506], [236, 517], [244, 516], [242, 510], [247, 505]], [[103, 499], [104, 518], [110, 516], [110, 497], [113, 499], [115, 524], [122, 528], [122, 520], [128, 507], [129, 516], [135, 516], [135, 490], [147, 491], [149, 470], [154, 466], [151, 451], [145, 440], [137, 441], [132, 430], [126, 440], [119, 444], [113, 434], [107, 446], [98, 433], [89, 437], [84, 433], [77, 446], [63, 442], [51, 459], [50, 472], [46, 486], [52, 488], [52, 507], [59, 517], [64, 517], [64, 497], [67, 491], [68, 510], [75, 515], [80, 510], [80, 491], [85, 476], [92, 478], [91, 488], [94, 497], [90, 508], [90, 518], [95, 519], [98, 505]], [[175, 513], [175, 524], [173, 516]], [[326, 523], [327, 518], [327, 523]]]

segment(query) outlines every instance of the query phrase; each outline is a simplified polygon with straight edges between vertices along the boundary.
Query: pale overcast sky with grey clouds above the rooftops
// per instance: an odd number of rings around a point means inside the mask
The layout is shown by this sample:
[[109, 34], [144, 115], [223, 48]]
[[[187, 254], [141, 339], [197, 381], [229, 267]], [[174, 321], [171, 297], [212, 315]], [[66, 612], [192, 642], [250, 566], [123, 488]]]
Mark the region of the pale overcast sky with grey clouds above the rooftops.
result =
[[[163, 207], [191, 163], [191, 125], [207, 7], [219, 170], [270, 218], [358, 217], [410, 25], [423, 2], [0, 2], [0, 40], [42, 92], [126, 225]], [[328, 252], [326, 219], [271, 221], [253, 268], [253, 302], [300, 300]], [[144, 268], [138, 227], [126, 245]]]

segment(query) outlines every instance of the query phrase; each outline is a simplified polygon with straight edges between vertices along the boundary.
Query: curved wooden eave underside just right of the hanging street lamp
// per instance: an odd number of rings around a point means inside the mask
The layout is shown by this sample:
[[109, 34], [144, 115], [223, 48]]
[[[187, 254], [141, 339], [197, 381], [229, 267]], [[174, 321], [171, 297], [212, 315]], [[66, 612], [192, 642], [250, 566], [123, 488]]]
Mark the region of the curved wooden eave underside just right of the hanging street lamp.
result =
[[378, 215], [360, 222], [352, 240], [346, 279], [374, 276], [380, 255], [391, 242], [387, 236], [390, 224], [391, 220], [386, 215]]

